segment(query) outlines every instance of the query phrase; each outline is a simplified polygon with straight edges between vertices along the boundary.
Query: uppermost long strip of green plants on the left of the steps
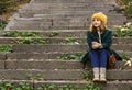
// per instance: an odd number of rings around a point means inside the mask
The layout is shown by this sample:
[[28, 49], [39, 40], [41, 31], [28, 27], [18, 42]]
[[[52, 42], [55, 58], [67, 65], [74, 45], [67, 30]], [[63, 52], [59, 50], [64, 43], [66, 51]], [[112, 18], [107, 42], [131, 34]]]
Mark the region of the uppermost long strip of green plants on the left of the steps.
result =
[[41, 37], [37, 32], [19, 32], [19, 31], [11, 31], [3, 33], [2, 36], [6, 37]]

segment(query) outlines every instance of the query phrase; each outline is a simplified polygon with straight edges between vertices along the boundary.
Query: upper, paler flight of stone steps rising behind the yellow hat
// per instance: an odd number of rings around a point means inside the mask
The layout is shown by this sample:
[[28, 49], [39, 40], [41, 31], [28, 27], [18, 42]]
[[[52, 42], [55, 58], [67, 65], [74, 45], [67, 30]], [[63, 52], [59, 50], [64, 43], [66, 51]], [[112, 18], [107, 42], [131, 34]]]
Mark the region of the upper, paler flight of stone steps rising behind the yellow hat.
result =
[[[95, 3], [97, 2], [97, 3]], [[102, 11], [108, 15], [108, 26], [121, 25], [127, 20], [114, 7], [105, 0], [44, 0], [31, 1], [11, 23], [11, 30], [87, 30], [91, 15]], [[119, 21], [120, 20], [120, 21]]]

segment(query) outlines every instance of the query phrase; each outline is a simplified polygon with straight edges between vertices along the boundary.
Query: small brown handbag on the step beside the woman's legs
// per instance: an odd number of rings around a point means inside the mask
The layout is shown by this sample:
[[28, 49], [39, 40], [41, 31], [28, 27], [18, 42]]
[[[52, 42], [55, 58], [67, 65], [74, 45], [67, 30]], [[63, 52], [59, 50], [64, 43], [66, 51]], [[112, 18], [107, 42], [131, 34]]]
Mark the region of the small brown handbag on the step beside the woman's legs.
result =
[[117, 61], [117, 58], [116, 58], [114, 54], [111, 54], [109, 56], [108, 68], [114, 69], [116, 68], [116, 61]]

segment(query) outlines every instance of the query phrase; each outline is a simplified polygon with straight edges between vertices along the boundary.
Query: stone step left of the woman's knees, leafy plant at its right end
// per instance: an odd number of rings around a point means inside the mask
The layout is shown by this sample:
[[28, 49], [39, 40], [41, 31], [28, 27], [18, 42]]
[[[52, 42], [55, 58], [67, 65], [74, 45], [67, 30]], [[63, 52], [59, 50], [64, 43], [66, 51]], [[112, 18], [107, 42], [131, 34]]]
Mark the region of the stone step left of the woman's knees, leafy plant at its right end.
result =
[[[85, 52], [86, 53], [86, 52]], [[82, 54], [82, 52], [68, 52], [68, 53], [62, 53], [62, 52], [54, 52], [54, 53], [8, 53], [8, 54], [2, 54], [2, 58], [0, 58], [1, 60], [4, 59], [11, 59], [11, 60], [43, 60], [43, 59], [63, 59], [63, 58], [67, 58], [70, 57], [70, 55], [76, 55], [76, 56], [80, 56]], [[67, 60], [73, 60], [73, 59], [68, 59]]]

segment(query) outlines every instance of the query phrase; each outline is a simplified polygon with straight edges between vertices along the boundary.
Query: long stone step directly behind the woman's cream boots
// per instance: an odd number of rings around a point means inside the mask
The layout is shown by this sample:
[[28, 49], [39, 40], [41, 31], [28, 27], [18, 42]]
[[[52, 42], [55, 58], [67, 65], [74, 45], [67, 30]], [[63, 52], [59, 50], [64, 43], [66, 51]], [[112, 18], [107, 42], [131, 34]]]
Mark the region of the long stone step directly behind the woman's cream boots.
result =
[[[82, 69], [0, 69], [0, 79], [2, 80], [28, 80], [32, 77], [38, 77], [44, 80], [82, 80]], [[107, 70], [108, 80], [132, 80], [132, 70]]]

